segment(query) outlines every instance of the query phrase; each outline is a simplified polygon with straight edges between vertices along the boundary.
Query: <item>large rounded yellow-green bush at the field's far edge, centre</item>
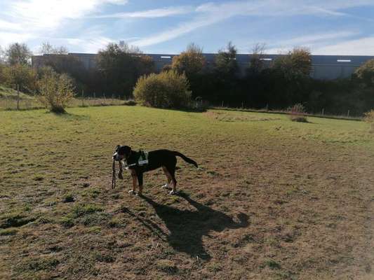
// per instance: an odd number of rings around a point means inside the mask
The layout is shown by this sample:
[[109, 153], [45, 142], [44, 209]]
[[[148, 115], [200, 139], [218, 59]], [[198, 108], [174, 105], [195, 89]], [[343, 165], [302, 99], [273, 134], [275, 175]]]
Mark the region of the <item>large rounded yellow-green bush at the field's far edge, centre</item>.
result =
[[164, 71], [142, 76], [134, 87], [134, 97], [145, 106], [157, 108], [187, 108], [191, 99], [185, 73]]

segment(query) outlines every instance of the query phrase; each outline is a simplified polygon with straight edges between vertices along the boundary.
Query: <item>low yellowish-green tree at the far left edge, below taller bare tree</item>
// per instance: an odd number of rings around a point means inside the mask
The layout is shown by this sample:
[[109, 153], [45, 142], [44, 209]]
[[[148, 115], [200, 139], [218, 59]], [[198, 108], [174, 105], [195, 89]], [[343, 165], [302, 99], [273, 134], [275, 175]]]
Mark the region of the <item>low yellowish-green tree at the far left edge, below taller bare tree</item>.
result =
[[8, 87], [19, 88], [22, 92], [33, 93], [36, 90], [37, 73], [32, 67], [24, 64], [4, 66], [2, 80]]

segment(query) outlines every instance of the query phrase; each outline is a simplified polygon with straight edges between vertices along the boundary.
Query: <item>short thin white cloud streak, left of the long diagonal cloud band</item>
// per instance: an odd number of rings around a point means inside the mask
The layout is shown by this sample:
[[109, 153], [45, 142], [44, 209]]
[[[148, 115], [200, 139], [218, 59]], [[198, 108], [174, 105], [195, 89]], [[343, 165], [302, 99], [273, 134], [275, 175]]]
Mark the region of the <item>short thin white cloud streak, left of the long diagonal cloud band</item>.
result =
[[131, 13], [113, 13], [109, 15], [96, 15], [93, 18], [164, 18], [173, 15], [191, 13], [194, 8], [190, 6], [178, 6], [168, 8], [157, 8], [154, 10], [141, 10]]

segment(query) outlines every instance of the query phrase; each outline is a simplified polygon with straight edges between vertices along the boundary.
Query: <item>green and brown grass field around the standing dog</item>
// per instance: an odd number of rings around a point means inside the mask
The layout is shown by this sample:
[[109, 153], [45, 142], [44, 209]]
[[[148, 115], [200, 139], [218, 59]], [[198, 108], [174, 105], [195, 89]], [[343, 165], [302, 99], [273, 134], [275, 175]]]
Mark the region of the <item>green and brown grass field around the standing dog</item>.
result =
[[[112, 106], [0, 112], [0, 279], [374, 279], [374, 134], [349, 120]], [[180, 195], [112, 190], [170, 148]]]

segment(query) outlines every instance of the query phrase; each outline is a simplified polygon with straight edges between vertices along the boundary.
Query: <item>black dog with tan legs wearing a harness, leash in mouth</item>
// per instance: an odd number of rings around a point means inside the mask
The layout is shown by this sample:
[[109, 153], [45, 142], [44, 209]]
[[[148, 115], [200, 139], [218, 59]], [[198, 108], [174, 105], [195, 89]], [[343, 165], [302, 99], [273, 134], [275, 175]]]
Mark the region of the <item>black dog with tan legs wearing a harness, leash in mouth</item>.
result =
[[[136, 192], [136, 181], [138, 180], [139, 192], [138, 195], [142, 195], [143, 190], [143, 173], [149, 172], [151, 170], [162, 167], [163, 172], [165, 172], [167, 183], [162, 186], [163, 188], [168, 188], [171, 182], [173, 183], [173, 189], [170, 194], [175, 195], [177, 193], [177, 180], [175, 179], [175, 167], [177, 165], [177, 157], [182, 158], [185, 162], [194, 165], [198, 168], [197, 163], [187, 158], [182, 153], [169, 150], [155, 150], [148, 152], [148, 162], [146, 165], [139, 165], [138, 161], [142, 155], [141, 151], [133, 151], [129, 146], [116, 146], [116, 153], [113, 155], [113, 159], [120, 162], [125, 160], [128, 165], [128, 170], [131, 172], [131, 177], [133, 178], [133, 189], [128, 193], [135, 194]], [[121, 168], [120, 168], [121, 172]], [[120, 173], [121, 174], [121, 173]], [[121, 176], [119, 176], [121, 178]]]

